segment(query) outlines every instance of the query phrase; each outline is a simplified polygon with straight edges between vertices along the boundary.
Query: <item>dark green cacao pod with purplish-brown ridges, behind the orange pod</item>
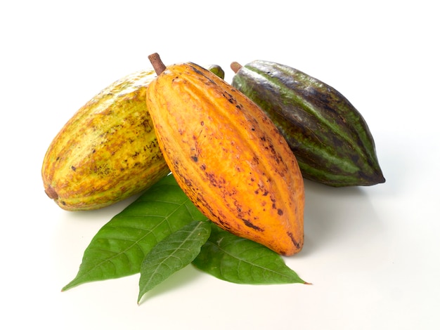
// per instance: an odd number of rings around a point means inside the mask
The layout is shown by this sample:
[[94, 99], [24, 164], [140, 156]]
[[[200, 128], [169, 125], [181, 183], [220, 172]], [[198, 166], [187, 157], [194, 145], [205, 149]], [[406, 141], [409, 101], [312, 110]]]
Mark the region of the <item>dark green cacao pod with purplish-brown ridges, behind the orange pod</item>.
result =
[[384, 183], [365, 120], [341, 93], [286, 65], [256, 60], [232, 85], [266, 112], [295, 153], [304, 178], [333, 187]]

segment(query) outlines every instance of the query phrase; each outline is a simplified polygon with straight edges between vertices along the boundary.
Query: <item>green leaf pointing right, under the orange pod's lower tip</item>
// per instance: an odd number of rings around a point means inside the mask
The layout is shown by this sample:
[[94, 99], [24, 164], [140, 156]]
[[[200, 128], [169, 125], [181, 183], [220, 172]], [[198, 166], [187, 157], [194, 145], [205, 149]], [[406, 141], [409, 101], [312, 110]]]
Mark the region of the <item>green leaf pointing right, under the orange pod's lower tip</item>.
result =
[[278, 253], [218, 227], [212, 228], [193, 265], [214, 277], [238, 284], [306, 284], [285, 265]]

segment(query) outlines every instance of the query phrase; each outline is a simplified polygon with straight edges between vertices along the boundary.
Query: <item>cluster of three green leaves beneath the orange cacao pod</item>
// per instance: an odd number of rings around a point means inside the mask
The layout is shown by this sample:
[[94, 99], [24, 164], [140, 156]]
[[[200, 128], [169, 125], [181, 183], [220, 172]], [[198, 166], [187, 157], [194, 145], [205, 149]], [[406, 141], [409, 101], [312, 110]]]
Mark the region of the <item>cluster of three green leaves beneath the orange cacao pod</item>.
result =
[[169, 175], [101, 227], [63, 291], [140, 273], [139, 303], [190, 264], [237, 284], [306, 284], [277, 253], [210, 222]]

